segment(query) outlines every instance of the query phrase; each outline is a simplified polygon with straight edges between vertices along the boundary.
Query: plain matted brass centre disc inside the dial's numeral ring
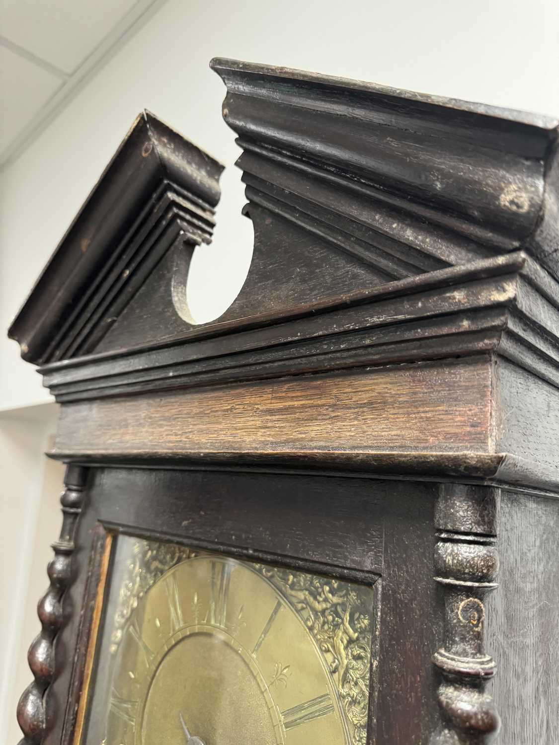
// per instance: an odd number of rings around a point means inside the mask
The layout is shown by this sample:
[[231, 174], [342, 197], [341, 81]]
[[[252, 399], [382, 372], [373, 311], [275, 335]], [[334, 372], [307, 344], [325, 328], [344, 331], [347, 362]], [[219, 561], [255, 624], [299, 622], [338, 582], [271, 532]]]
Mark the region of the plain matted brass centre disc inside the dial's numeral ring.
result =
[[282, 744], [262, 676], [229, 640], [219, 630], [192, 633], [165, 654], [148, 691], [143, 745], [186, 745], [180, 712], [205, 745]]

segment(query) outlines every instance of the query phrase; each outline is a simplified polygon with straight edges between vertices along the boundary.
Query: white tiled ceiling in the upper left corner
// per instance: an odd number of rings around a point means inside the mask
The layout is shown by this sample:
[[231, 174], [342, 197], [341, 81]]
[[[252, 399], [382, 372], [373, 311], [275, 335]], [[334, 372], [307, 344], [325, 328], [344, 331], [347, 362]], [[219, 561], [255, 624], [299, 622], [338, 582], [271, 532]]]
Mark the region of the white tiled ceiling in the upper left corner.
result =
[[165, 0], [0, 0], [0, 167]]

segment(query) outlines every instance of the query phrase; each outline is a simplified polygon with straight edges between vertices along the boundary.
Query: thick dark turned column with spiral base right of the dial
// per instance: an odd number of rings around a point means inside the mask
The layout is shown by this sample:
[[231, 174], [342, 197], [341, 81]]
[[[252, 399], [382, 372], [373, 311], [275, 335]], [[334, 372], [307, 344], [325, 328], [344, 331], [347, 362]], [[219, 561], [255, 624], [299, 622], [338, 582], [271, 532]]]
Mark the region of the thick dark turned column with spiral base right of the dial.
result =
[[495, 672], [495, 662], [484, 649], [484, 599], [497, 586], [498, 509], [499, 489], [440, 485], [435, 581], [444, 592], [445, 638], [433, 662], [441, 676], [443, 723], [431, 745], [484, 745], [499, 732], [499, 715], [484, 692]]

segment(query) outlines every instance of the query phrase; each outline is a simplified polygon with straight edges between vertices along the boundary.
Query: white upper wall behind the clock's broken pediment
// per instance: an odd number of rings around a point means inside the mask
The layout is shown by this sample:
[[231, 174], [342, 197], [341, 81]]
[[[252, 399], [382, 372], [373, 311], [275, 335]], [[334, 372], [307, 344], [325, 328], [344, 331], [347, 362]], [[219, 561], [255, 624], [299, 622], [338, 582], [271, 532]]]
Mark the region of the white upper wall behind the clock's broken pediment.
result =
[[[169, 0], [2, 175], [1, 328], [144, 107], [229, 166], [205, 297], [239, 283], [250, 226], [212, 56], [558, 114], [558, 29], [557, 0]], [[0, 345], [0, 408], [45, 401], [16, 344]]]

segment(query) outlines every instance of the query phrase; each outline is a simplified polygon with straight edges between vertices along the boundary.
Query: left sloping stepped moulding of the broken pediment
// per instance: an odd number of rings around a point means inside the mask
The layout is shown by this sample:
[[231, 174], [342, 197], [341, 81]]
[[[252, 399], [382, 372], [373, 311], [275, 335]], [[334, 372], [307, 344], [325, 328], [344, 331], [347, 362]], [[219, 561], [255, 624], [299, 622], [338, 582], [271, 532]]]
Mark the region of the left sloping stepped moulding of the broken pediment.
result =
[[22, 357], [91, 350], [177, 238], [209, 243], [222, 170], [142, 112], [10, 326]]

